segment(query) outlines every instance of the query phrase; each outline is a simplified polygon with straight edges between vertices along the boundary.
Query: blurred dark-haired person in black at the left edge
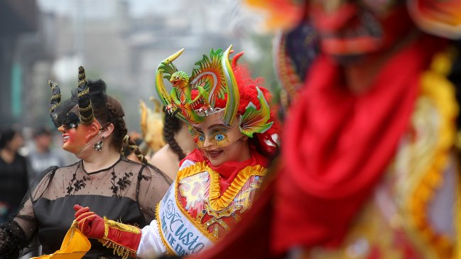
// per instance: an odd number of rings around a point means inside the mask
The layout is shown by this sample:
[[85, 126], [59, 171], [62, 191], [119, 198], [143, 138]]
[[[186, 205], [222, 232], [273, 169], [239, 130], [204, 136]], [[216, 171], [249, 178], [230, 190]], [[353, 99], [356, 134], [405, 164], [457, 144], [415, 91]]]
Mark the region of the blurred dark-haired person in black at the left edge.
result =
[[0, 128], [0, 223], [16, 213], [28, 189], [27, 160], [18, 153], [23, 144], [21, 131]]

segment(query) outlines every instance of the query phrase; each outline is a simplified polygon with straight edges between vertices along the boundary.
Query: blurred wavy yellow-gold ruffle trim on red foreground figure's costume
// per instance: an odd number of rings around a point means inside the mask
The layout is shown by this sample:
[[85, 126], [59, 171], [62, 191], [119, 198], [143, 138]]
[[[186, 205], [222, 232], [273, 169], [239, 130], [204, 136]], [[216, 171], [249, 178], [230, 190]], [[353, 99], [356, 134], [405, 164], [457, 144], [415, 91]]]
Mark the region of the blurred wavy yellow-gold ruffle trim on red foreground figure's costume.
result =
[[[435, 190], [443, 182], [443, 173], [448, 163], [450, 149], [455, 143], [456, 127], [454, 122], [458, 113], [458, 106], [454, 100], [455, 87], [446, 78], [455, 55], [456, 53], [452, 48], [435, 55], [430, 70], [425, 71], [421, 77], [422, 95], [433, 101], [440, 113], [441, 120], [433, 162], [428, 166], [423, 177], [418, 179], [412, 197], [408, 201], [408, 212], [417, 231], [416, 237], [422, 238], [425, 243], [435, 248], [435, 253], [440, 258], [450, 258], [453, 244], [448, 236], [442, 236], [435, 231], [426, 216], [425, 209], [428, 208], [433, 199]], [[455, 219], [459, 218], [456, 217]]]

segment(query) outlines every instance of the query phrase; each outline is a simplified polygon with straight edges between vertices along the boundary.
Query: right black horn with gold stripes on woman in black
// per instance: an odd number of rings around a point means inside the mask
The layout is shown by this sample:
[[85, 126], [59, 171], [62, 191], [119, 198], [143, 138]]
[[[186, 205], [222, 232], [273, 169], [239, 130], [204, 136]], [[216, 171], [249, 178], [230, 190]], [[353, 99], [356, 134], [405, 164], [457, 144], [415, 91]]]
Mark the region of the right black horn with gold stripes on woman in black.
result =
[[78, 67], [78, 109], [80, 121], [84, 125], [89, 125], [93, 121], [93, 107], [90, 99], [90, 89], [85, 77], [85, 69]]

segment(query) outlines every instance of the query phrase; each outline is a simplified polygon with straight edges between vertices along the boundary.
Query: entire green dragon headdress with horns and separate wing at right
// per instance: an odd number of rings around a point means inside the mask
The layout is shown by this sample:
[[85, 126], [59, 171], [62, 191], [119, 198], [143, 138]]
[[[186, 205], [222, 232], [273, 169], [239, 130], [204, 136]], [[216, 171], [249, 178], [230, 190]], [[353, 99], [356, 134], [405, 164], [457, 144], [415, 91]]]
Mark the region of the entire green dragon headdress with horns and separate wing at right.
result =
[[[250, 102], [244, 113], [238, 114], [240, 96], [232, 70], [234, 62], [229, 60], [231, 50], [232, 45], [224, 53], [217, 49], [211, 50], [210, 56], [203, 55], [201, 60], [195, 62], [197, 67], [192, 70], [191, 76], [178, 71], [173, 65], [173, 61], [184, 49], [167, 57], [156, 71], [157, 94], [168, 112], [190, 126], [202, 123], [211, 114], [222, 113], [224, 125], [232, 126], [234, 119], [239, 116], [239, 130], [244, 135], [253, 137], [254, 133], [264, 133], [273, 124], [268, 122], [269, 104], [261, 90], [256, 87], [259, 109]], [[173, 85], [169, 94], [163, 83], [164, 78]]]

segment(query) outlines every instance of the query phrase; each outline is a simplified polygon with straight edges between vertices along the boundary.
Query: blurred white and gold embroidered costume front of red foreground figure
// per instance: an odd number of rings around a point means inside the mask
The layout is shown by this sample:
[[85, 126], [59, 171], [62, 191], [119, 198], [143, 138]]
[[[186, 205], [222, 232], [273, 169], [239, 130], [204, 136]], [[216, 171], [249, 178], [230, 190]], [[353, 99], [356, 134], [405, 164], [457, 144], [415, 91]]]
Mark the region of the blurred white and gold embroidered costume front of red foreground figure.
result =
[[430, 70], [421, 75], [421, 94], [411, 117], [415, 131], [403, 136], [394, 163], [374, 197], [364, 204], [342, 246], [313, 248], [304, 251], [305, 258], [369, 258], [370, 253], [377, 253], [380, 258], [398, 259], [406, 258], [408, 249], [416, 258], [461, 258], [461, 184], [457, 174], [452, 204], [457, 242], [435, 231], [428, 217], [430, 202], [453, 162], [450, 151], [455, 143], [458, 106], [454, 87], [446, 79], [452, 55], [448, 50], [435, 56]]

